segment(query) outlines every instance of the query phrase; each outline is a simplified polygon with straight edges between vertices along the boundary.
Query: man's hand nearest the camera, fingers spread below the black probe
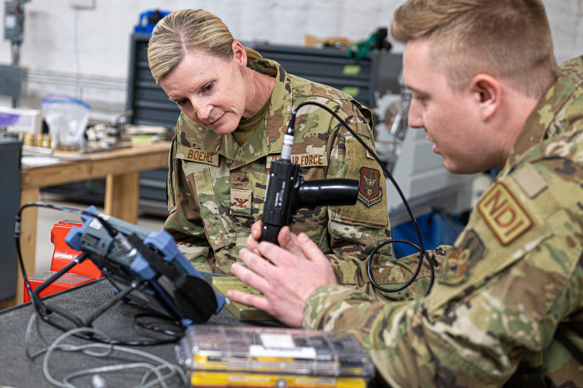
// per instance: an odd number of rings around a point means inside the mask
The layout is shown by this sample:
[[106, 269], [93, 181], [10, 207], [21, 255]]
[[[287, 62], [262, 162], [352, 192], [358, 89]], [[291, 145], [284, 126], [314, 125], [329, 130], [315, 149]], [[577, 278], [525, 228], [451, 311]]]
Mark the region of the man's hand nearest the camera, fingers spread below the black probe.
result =
[[308, 297], [319, 287], [336, 284], [336, 276], [324, 253], [307, 234], [296, 237], [288, 227], [283, 227], [278, 236], [280, 244], [282, 237], [293, 244], [287, 244], [290, 251], [271, 242], [255, 241], [255, 245], [248, 246], [255, 253], [245, 248], [239, 253], [249, 269], [237, 263], [231, 266], [235, 276], [265, 297], [229, 290], [227, 298], [263, 310], [288, 326], [301, 327]]

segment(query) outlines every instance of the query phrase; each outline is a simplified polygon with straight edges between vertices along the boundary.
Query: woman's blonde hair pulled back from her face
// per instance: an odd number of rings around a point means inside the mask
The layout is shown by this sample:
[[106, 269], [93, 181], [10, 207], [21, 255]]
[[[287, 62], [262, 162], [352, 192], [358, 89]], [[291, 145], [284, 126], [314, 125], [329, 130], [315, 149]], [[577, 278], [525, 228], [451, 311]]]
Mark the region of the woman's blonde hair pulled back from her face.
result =
[[[230, 61], [233, 35], [223, 21], [202, 9], [179, 9], [160, 20], [147, 47], [147, 61], [156, 83], [166, 77], [191, 50], [202, 50]], [[247, 61], [262, 58], [245, 47]]]

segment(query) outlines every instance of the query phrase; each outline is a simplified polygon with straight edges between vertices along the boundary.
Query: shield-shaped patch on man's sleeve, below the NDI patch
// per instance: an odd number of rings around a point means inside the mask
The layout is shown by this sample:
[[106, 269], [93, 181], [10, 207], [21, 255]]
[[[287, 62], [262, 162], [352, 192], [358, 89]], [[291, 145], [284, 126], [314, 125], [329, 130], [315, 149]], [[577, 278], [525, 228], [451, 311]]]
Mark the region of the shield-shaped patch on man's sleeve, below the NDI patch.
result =
[[445, 285], [459, 285], [468, 278], [470, 269], [482, 259], [486, 246], [479, 235], [470, 229], [463, 237], [462, 243], [445, 256], [441, 263], [438, 282]]

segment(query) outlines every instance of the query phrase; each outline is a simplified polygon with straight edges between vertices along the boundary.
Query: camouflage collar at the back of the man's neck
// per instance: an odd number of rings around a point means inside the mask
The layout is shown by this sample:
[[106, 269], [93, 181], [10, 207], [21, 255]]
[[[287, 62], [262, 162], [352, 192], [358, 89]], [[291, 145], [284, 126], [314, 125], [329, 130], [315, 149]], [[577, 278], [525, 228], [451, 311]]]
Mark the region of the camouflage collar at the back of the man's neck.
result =
[[521, 154], [547, 137], [547, 132], [557, 113], [563, 108], [575, 88], [581, 84], [582, 68], [583, 57], [571, 59], [561, 65], [563, 74], [540, 98], [539, 103], [526, 119], [506, 161], [507, 167], [513, 164]]

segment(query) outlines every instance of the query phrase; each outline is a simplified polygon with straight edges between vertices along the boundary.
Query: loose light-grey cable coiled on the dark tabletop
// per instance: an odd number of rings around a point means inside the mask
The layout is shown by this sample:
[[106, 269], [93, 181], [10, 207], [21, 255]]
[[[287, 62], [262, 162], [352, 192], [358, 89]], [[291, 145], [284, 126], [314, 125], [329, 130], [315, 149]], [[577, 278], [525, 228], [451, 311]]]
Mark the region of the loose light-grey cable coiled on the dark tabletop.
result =
[[[166, 380], [170, 379], [171, 377], [173, 377], [177, 374], [180, 375], [184, 384], [187, 385], [187, 376], [184, 373], [184, 371], [182, 370], [182, 368], [180, 368], [180, 366], [171, 364], [170, 362], [168, 362], [160, 357], [157, 357], [153, 354], [150, 354], [148, 352], [135, 350], [135, 349], [128, 348], [128, 347], [122, 347], [119, 345], [111, 345], [111, 344], [103, 344], [103, 343], [89, 343], [89, 344], [85, 344], [85, 345], [61, 344], [62, 341], [64, 341], [66, 338], [68, 338], [70, 336], [73, 336], [75, 333], [92, 333], [92, 334], [98, 334], [102, 338], [107, 338], [105, 333], [101, 332], [100, 330], [93, 329], [92, 327], [76, 327], [75, 329], [69, 330], [66, 333], [59, 336], [47, 348], [43, 348], [41, 350], [38, 350], [38, 351], [30, 354], [29, 344], [30, 344], [30, 336], [31, 336], [31, 333], [33, 331], [33, 326], [36, 326], [36, 331], [37, 331], [37, 334], [40, 337], [40, 339], [45, 344], [48, 344], [47, 341], [45, 341], [44, 338], [41, 336], [40, 329], [38, 328], [37, 316], [36, 316], [36, 314], [33, 314], [30, 317], [29, 324], [26, 327], [26, 334], [24, 336], [24, 347], [25, 347], [25, 351], [26, 351], [26, 356], [30, 359], [33, 359], [33, 358], [38, 357], [38, 355], [45, 353], [44, 359], [43, 359], [43, 373], [44, 373], [45, 378], [47, 378], [47, 380], [52, 385], [62, 387], [62, 388], [78, 388], [75, 385], [73, 385], [72, 383], [70, 383], [69, 380], [75, 379], [75, 378], [78, 378], [79, 376], [84, 376], [84, 375], [95, 375], [97, 373], [107, 373], [107, 372], [119, 372], [119, 371], [124, 371], [127, 369], [147, 369], [147, 371], [142, 376], [142, 381], [139, 383], [139, 385], [137, 385], [133, 388], [149, 388], [149, 387], [152, 387], [152, 386], [155, 386], [158, 384], [160, 386], [162, 386], [163, 388], [168, 388], [168, 386], [166, 385]], [[104, 351], [99, 351], [99, 352], [93, 351], [93, 350], [97, 350], [97, 349], [104, 350]], [[99, 358], [109, 357], [111, 354], [113, 354], [114, 351], [126, 352], [129, 354], [134, 354], [134, 355], [138, 355], [140, 357], [146, 358], [149, 361], [155, 362], [159, 365], [154, 365], [151, 362], [132, 362], [129, 364], [114, 364], [114, 365], [108, 365], [108, 366], [101, 366], [99, 368], [83, 369], [82, 371], [73, 372], [73, 373], [70, 373], [69, 375], [66, 375], [63, 378], [62, 382], [59, 382], [58, 380], [54, 379], [51, 376], [51, 373], [48, 369], [48, 364], [49, 364], [51, 355], [55, 351], [66, 351], [66, 352], [78, 352], [78, 351], [80, 351], [85, 355], [89, 355], [90, 357], [99, 357]], [[164, 371], [165, 369], [168, 370], [168, 373], [163, 375], [162, 371]], [[147, 379], [149, 379], [150, 376], [152, 376], [152, 375], [156, 375], [156, 379], [153, 379], [153, 380], [147, 382]]]

